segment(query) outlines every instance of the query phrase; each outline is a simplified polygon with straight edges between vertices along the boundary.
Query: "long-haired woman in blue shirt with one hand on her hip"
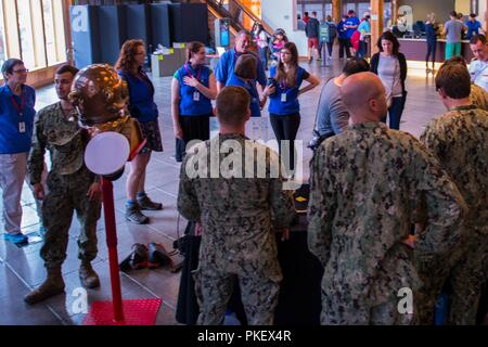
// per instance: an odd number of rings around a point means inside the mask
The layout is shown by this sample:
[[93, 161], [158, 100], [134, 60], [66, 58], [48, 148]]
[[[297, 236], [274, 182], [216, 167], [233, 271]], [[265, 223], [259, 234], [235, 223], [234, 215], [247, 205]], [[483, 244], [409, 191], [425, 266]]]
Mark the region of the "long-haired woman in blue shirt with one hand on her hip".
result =
[[[319, 79], [298, 66], [298, 51], [293, 42], [287, 42], [281, 49], [280, 61], [270, 69], [272, 83], [266, 87], [264, 94], [270, 98], [269, 116], [274, 136], [280, 144], [290, 141], [290, 169], [295, 168], [295, 141], [300, 125], [300, 105], [298, 97], [320, 85]], [[308, 86], [300, 88], [306, 80]], [[287, 158], [288, 156], [285, 156]]]

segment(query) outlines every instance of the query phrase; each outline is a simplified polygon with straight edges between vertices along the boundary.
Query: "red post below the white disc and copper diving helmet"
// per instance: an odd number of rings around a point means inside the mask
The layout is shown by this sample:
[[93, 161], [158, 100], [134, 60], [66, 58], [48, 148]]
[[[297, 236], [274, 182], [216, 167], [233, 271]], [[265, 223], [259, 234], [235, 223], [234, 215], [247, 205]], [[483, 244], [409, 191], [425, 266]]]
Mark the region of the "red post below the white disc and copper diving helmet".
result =
[[114, 307], [114, 321], [124, 321], [124, 310], [120, 290], [120, 275], [118, 273], [117, 230], [115, 223], [114, 187], [112, 181], [102, 177], [103, 213], [105, 216], [106, 245], [108, 247], [108, 261], [111, 269], [112, 303]]

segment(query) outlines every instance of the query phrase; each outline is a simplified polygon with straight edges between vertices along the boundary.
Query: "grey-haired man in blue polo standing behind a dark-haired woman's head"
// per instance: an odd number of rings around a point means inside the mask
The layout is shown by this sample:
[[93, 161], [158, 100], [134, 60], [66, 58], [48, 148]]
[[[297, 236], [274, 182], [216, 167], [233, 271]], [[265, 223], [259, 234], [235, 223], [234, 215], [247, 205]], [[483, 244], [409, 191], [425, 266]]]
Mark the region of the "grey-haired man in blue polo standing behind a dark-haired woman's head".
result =
[[[247, 30], [241, 30], [235, 36], [235, 46], [233, 49], [222, 54], [215, 69], [215, 76], [217, 79], [217, 91], [226, 87], [232, 73], [234, 72], [235, 62], [239, 56], [244, 53], [252, 53], [249, 51], [251, 34]], [[256, 81], [265, 89], [266, 87], [266, 73], [262, 67], [261, 61], [257, 57], [257, 78]]]

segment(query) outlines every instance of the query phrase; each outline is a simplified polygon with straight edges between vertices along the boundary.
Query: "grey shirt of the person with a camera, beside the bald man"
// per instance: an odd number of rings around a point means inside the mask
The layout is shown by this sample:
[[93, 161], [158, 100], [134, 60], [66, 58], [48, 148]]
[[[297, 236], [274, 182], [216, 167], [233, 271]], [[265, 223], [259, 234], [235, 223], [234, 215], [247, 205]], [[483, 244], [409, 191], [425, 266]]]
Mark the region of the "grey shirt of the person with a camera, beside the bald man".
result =
[[317, 108], [317, 129], [320, 134], [339, 133], [349, 124], [349, 112], [341, 99], [341, 87], [332, 78], [322, 88]]

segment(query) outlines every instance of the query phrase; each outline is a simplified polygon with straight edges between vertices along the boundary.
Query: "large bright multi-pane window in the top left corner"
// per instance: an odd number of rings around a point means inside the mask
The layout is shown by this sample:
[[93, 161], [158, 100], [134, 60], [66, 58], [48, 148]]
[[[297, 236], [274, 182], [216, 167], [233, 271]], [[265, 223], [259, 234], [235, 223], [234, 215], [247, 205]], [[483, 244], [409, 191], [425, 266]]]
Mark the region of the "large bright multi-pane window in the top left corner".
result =
[[64, 0], [0, 0], [0, 63], [20, 57], [29, 69], [66, 61]]

